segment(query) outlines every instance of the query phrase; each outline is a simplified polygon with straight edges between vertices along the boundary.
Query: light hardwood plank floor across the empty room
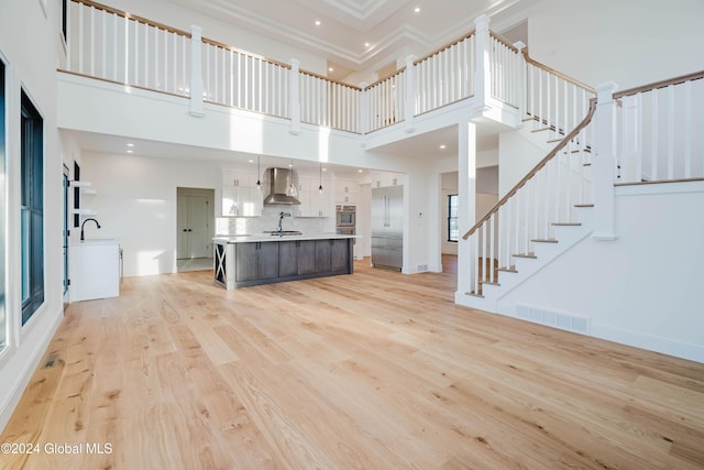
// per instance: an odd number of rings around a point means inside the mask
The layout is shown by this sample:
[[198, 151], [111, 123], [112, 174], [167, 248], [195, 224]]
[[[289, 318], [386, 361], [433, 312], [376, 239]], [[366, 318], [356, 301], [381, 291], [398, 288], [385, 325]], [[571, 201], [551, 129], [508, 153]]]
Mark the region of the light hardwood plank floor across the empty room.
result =
[[0, 467], [704, 468], [704, 364], [459, 307], [454, 282], [125, 278], [69, 307], [0, 436], [41, 453]]

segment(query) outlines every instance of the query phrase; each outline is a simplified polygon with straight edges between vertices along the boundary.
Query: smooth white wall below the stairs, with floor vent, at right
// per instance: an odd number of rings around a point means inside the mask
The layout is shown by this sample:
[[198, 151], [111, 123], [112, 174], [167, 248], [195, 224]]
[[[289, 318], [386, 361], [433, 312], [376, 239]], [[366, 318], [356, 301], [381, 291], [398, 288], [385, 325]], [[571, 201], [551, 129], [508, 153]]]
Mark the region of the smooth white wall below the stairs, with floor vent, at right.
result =
[[580, 316], [593, 336], [704, 362], [704, 183], [618, 194], [617, 240], [583, 240], [502, 298], [499, 311]]

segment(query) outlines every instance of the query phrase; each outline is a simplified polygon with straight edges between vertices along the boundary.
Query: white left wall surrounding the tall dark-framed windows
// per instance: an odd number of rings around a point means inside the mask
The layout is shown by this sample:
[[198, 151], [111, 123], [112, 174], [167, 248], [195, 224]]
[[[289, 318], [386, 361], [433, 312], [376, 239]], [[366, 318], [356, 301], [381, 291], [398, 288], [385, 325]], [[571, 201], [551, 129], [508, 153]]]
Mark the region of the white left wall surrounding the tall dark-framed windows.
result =
[[[6, 67], [6, 302], [8, 346], [0, 351], [0, 429], [38, 364], [63, 315], [62, 142], [56, 131], [55, 66], [58, 61], [59, 2], [45, 15], [38, 1], [3, 0], [0, 59]], [[21, 326], [20, 96], [25, 90], [44, 127], [44, 304]], [[6, 269], [6, 266], [2, 266]]]

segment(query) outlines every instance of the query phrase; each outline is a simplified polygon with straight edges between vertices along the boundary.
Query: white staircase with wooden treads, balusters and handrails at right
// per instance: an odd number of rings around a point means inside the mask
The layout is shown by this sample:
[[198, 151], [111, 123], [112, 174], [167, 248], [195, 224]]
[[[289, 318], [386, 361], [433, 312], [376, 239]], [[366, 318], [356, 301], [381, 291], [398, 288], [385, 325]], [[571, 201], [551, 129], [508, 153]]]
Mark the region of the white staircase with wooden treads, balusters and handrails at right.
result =
[[[502, 299], [584, 240], [616, 238], [615, 187], [704, 177], [704, 145], [692, 132], [702, 111], [691, 105], [704, 96], [704, 73], [618, 94], [605, 88], [597, 99], [583, 84], [526, 63], [520, 132], [554, 147], [462, 237], [470, 282], [455, 302], [560, 327], [553, 313], [547, 320]], [[588, 334], [588, 321], [574, 320], [566, 329]]]

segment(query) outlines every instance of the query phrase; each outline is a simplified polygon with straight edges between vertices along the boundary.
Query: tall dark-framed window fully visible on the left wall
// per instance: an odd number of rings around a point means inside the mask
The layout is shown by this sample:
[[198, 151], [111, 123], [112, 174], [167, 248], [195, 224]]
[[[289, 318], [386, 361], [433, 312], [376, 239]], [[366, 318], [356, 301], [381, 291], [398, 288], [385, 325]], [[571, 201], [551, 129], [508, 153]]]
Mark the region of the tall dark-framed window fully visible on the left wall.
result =
[[22, 91], [21, 225], [22, 325], [44, 303], [44, 140], [43, 121]]

